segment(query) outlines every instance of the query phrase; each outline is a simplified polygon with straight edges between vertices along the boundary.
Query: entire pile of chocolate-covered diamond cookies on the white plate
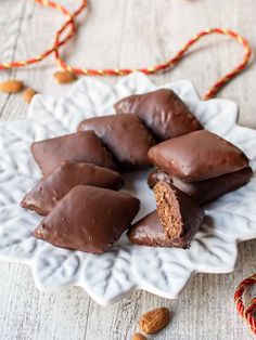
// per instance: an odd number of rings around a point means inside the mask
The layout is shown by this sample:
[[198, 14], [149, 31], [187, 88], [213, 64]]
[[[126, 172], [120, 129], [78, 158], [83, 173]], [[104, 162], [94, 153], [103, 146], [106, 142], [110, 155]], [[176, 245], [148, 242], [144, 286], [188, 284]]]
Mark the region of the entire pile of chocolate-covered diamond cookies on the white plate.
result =
[[114, 107], [117, 115], [86, 119], [76, 133], [31, 145], [43, 176], [21, 206], [44, 215], [34, 236], [56, 247], [106, 251], [140, 208], [139, 199], [116, 192], [124, 183], [117, 170], [154, 164], [148, 182], [156, 210], [132, 225], [128, 238], [188, 248], [204, 219], [201, 204], [247, 183], [248, 159], [202, 130], [171, 90], [131, 95]]

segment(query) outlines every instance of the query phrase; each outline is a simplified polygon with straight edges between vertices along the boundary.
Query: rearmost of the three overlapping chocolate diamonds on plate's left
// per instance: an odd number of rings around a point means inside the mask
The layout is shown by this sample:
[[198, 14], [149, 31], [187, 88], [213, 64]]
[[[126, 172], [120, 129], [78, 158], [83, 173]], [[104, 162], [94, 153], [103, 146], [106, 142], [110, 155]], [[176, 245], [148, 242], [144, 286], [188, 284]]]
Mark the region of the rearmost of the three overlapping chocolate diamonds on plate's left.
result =
[[93, 131], [33, 143], [31, 153], [42, 173], [49, 173], [63, 160], [90, 162], [99, 167], [116, 169], [112, 155]]

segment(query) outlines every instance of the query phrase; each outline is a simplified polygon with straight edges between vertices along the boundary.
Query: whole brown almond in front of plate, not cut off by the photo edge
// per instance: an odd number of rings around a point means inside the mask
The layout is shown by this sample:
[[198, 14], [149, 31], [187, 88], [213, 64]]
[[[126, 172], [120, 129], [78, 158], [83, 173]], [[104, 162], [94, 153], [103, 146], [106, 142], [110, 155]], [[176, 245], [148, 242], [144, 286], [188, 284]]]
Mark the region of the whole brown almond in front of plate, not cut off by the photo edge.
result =
[[140, 329], [148, 335], [153, 335], [163, 329], [169, 323], [170, 313], [168, 309], [161, 308], [144, 313], [139, 321]]

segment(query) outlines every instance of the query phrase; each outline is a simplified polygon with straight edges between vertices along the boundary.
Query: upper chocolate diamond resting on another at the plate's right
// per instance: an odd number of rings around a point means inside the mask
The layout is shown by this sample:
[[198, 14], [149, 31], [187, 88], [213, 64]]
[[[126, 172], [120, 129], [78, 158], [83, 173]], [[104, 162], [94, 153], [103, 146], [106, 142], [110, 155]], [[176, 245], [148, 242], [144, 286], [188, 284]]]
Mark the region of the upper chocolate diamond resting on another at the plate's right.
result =
[[163, 142], [149, 152], [152, 162], [187, 182], [200, 182], [248, 166], [244, 153], [233, 144], [206, 130]]

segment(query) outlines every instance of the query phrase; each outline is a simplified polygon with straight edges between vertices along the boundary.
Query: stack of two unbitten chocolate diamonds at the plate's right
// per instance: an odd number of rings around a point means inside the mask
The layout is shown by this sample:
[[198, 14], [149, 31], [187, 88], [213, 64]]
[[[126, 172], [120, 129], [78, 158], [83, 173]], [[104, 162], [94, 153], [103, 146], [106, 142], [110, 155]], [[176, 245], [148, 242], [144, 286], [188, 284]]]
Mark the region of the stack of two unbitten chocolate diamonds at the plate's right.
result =
[[239, 188], [252, 176], [244, 153], [206, 130], [163, 142], [149, 157], [158, 167], [149, 176], [151, 187], [167, 181], [201, 204]]

